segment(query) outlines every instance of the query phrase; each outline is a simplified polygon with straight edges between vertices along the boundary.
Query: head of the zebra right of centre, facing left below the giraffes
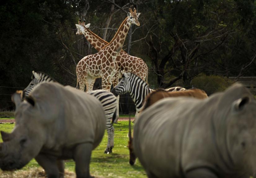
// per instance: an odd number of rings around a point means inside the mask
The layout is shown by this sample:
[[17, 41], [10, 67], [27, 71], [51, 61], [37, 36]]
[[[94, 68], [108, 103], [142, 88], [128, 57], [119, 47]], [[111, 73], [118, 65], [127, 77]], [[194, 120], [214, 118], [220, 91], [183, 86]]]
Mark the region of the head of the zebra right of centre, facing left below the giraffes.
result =
[[117, 84], [117, 86], [115, 86], [111, 92], [115, 95], [121, 95], [127, 92], [130, 92], [131, 89], [131, 80], [132, 80], [132, 75], [130, 72], [123, 72], [122, 75], [122, 79], [120, 80], [120, 82]]

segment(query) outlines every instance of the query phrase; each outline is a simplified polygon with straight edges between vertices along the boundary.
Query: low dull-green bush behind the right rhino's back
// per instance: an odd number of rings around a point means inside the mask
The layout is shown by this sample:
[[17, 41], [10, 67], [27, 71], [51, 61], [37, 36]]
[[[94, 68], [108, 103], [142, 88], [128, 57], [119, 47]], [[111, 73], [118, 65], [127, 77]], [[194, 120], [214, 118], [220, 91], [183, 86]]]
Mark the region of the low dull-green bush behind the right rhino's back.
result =
[[205, 90], [205, 92], [210, 95], [215, 92], [223, 91], [230, 85], [232, 85], [233, 81], [227, 79], [226, 77], [221, 76], [206, 76], [201, 75], [194, 78], [191, 82], [191, 85], [195, 88], [199, 88]]

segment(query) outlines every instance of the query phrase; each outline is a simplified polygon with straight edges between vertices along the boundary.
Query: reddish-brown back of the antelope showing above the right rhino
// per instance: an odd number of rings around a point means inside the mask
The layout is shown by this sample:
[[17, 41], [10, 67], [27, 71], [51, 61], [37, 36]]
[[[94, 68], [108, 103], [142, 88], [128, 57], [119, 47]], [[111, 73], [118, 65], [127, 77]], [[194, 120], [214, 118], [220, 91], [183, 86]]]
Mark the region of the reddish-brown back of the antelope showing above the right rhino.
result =
[[[207, 94], [204, 90], [201, 89], [188, 89], [184, 91], [174, 91], [174, 92], [167, 92], [164, 89], [157, 89], [152, 93], [149, 93], [147, 98], [145, 99], [143, 110], [154, 104], [155, 102], [167, 98], [167, 97], [194, 97], [198, 99], [208, 98]], [[142, 110], [142, 111], [143, 111]]]

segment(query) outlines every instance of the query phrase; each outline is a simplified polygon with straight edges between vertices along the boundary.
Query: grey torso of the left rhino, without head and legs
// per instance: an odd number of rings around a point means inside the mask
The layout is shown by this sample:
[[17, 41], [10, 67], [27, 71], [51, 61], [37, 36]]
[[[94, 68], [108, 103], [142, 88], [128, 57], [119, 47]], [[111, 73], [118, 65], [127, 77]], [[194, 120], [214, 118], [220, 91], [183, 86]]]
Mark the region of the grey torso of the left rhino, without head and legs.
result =
[[40, 118], [45, 127], [44, 148], [58, 150], [83, 142], [99, 145], [105, 128], [105, 115], [100, 102], [70, 86], [43, 83], [33, 90]]

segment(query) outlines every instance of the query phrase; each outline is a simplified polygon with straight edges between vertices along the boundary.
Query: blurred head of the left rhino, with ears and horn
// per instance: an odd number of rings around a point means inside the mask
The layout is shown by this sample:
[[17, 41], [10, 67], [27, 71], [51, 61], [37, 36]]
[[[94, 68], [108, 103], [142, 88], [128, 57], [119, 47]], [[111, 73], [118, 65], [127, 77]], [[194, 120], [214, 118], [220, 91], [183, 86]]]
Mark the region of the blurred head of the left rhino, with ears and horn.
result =
[[33, 98], [22, 101], [15, 93], [15, 127], [11, 133], [1, 131], [3, 143], [0, 143], [0, 168], [15, 170], [25, 166], [41, 150], [45, 140], [42, 137], [42, 127], [34, 117], [35, 102]]

